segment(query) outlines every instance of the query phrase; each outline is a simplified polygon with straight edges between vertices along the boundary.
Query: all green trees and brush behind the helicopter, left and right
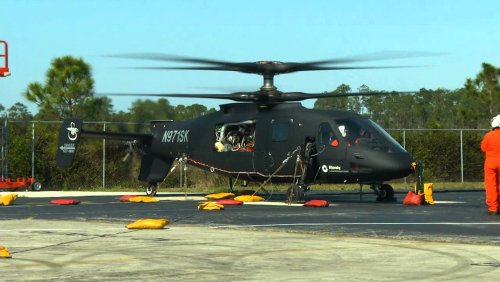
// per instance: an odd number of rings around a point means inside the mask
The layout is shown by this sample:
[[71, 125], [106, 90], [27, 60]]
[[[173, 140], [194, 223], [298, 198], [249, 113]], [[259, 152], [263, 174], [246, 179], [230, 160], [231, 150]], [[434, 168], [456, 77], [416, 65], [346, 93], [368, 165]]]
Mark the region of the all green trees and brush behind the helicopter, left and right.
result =
[[[362, 85], [357, 92], [387, 95], [351, 96], [318, 99], [314, 108], [345, 109], [367, 116], [380, 124], [400, 142], [402, 131], [396, 129], [488, 129], [490, 119], [500, 114], [500, 69], [483, 63], [480, 73], [467, 78], [459, 89], [420, 89], [415, 93], [375, 91]], [[349, 93], [352, 89], [341, 84], [325, 93]], [[129, 111], [114, 111], [108, 97], [94, 93], [91, 66], [81, 58], [64, 56], [55, 58], [44, 82], [32, 82], [22, 95], [38, 106], [32, 114], [22, 103], [10, 108], [0, 105], [2, 120], [9, 123], [9, 174], [13, 177], [31, 174], [31, 121], [62, 120], [81, 117], [85, 121], [111, 123], [107, 130], [145, 131], [150, 120], [186, 120], [215, 111], [200, 104], [173, 106], [167, 99], [138, 99]], [[3, 121], [2, 121], [3, 124]], [[89, 125], [102, 130], [102, 125]], [[35, 126], [35, 176], [45, 187], [52, 189], [100, 186], [102, 179], [102, 141], [83, 139], [76, 162], [69, 170], [55, 165], [55, 152], [59, 124], [37, 123]], [[459, 181], [457, 154], [460, 145], [457, 132], [412, 132], [405, 136], [407, 150], [426, 165], [427, 176], [434, 181]], [[484, 132], [468, 132], [464, 136], [464, 155], [468, 162], [467, 179], [482, 179], [482, 154], [479, 142]], [[411, 138], [410, 138], [411, 137]], [[132, 155], [127, 162], [127, 146], [106, 143], [106, 178], [108, 185], [138, 186], [136, 175], [139, 156]], [[460, 156], [458, 156], [458, 160]], [[458, 171], [458, 174], [457, 174]], [[197, 182], [220, 184], [225, 180], [195, 171], [191, 185]], [[469, 178], [470, 175], [470, 178]], [[176, 177], [165, 185], [175, 186]]]

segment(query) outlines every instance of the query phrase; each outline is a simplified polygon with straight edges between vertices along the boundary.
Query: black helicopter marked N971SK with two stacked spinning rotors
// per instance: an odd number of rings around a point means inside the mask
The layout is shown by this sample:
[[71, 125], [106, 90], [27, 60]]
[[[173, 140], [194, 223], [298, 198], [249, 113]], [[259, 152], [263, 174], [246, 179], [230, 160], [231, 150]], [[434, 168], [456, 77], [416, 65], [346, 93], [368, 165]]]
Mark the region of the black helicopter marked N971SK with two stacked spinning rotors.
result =
[[[174, 161], [225, 175], [230, 179], [292, 183], [289, 199], [300, 201], [313, 183], [368, 184], [378, 200], [394, 199], [384, 184], [412, 172], [412, 156], [377, 123], [343, 110], [307, 109], [306, 99], [380, 95], [380, 93], [281, 92], [274, 76], [298, 71], [399, 68], [401, 66], [338, 66], [338, 64], [390, 58], [367, 56], [303, 63], [258, 61], [227, 62], [162, 54], [128, 54], [113, 57], [197, 64], [141, 69], [236, 71], [262, 75], [255, 92], [231, 94], [105, 94], [230, 99], [220, 110], [187, 121], [155, 120], [151, 133], [102, 132], [82, 129], [81, 119], [66, 119], [60, 129], [59, 166], [72, 164], [78, 140], [83, 137], [132, 141], [143, 153], [139, 180], [148, 183], [146, 194], [155, 195]], [[398, 56], [395, 56], [398, 57]], [[406, 57], [406, 56], [403, 56]], [[388, 94], [388, 93], [383, 93]]]

